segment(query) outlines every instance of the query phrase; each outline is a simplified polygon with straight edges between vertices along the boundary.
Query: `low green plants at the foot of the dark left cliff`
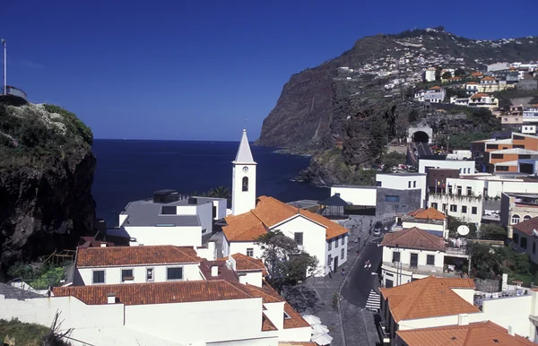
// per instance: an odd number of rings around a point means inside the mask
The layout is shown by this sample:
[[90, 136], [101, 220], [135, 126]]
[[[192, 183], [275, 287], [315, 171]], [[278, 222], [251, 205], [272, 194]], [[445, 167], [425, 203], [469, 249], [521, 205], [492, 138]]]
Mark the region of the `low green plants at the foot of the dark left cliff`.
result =
[[8, 269], [7, 274], [13, 278], [20, 278], [35, 290], [47, 290], [65, 279], [64, 266], [50, 263], [34, 265], [18, 262]]

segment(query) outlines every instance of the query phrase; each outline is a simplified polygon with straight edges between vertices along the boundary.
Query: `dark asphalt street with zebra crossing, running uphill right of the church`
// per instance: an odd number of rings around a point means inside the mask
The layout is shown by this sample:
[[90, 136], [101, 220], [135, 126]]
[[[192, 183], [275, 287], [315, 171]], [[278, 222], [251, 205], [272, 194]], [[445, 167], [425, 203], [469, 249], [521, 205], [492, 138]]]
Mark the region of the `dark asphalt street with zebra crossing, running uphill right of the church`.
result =
[[[389, 221], [384, 223], [383, 227], [391, 227], [393, 224], [394, 221]], [[372, 275], [372, 272], [376, 272], [381, 264], [383, 247], [378, 245], [382, 239], [383, 237], [370, 238], [369, 244], [360, 253], [359, 263], [353, 268], [349, 280], [342, 289], [343, 298], [356, 307], [366, 306], [370, 290], [374, 287], [375, 281], [377, 281], [377, 275]], [[364, 268], [364, 264], [368, 260], [372, 264], [369, 269]]]

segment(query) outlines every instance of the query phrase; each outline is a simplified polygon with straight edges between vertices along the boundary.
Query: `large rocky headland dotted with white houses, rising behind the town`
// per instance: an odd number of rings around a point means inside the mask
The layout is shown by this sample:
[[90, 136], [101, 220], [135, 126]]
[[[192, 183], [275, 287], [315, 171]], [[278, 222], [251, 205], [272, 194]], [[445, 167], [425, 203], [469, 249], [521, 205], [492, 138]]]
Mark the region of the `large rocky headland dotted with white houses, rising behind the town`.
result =
[[[424, 86], [424, 69], [470, 74], [487, 64], [535, 56], [537, 38], [466, 39], [442, 27], [359, 39], [341, 56], [291, 76], [256, 144], [295, 152], [337, 148], [348, 168], [362, 169], [380, 160], [380, 143], [406, 136], [409, 114], [417, 107], [413, 91]], [[310, 170], [324, 169], [323, 160], [315, 155]]]

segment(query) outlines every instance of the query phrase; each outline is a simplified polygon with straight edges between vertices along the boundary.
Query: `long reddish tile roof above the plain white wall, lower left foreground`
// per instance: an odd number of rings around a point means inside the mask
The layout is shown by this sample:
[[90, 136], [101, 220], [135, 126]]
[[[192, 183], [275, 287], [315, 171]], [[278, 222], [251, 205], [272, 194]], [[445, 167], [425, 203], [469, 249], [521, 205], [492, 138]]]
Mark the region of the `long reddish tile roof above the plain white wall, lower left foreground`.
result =
[[55, 287], [52, 293], [56, 297], [72, 296], [87, 305], [107, 304], [109, 293], [116, 293], [117, 302], [125, 305], [255, 298], [225, 280]]

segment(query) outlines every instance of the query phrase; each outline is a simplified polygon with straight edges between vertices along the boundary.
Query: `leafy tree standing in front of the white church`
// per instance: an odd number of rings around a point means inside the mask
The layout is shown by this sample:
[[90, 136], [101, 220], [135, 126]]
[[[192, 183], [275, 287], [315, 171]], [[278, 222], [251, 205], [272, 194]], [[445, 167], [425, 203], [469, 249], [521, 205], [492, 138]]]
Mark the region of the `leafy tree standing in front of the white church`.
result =
[[262, 250], [269, 284], [279, 293], [284, 285], [294, 284], [312, 275], [317, 269], [316, 256], [300, 251], [294, 239], [280, 230], [270, 230], [256, 239]]

